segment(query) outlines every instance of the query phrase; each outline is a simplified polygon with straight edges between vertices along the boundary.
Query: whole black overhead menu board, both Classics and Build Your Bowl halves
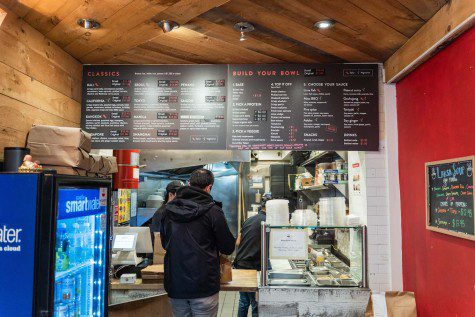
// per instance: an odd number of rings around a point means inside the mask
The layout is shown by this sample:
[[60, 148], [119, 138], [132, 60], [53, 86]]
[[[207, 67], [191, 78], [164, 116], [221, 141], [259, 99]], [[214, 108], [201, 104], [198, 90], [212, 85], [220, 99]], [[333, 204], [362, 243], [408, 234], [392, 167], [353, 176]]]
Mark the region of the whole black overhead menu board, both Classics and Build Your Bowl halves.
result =
[[85, 65], [94, 148], [379, 149], [377, 64]]

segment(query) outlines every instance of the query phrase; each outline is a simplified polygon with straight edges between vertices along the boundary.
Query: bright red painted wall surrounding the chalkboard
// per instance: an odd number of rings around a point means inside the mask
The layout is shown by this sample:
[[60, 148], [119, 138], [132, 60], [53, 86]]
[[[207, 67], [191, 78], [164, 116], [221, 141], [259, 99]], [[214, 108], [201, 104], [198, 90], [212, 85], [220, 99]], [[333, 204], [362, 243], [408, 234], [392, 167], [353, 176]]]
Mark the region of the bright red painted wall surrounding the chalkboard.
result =
[[424, 163], [475, 154], [475, 28], [397, 84], [404, 289], [419, 316], [475, 316], [475, 241], [425, 228]]

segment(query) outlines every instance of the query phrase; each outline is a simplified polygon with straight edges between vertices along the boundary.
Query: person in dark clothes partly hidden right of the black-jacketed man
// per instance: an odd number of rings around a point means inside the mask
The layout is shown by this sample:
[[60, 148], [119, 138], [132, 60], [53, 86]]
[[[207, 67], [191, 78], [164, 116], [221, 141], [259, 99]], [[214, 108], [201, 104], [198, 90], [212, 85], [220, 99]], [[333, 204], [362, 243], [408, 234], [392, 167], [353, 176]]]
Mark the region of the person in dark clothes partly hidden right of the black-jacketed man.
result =
[[[261, 202], [259, 213], [244, 221], [241, 232], [236, 241], [237, 253], [234, 260], [234, 267], [237, 269], [261, 270], [261, 222], [266, 221], [266, 201], [270, 198], [264, 197]], [[252, 308], [252, 317], [258, 316], [256, 293], [239, 292], [238, 317], [246, 317]]]

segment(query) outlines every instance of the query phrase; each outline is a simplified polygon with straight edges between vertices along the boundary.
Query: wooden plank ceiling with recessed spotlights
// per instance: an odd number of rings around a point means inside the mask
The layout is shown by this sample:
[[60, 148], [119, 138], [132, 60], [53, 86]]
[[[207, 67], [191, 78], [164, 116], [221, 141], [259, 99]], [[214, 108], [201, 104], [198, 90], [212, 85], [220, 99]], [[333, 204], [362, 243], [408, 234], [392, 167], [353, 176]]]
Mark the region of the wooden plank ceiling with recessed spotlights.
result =
[[[0, 0], [83, 63], [383, 62], [445, 0]], [[79, 18], [102, 27], [85, 30]], [[331, 18], [333, 28], [316, 31]], [[163, 33], [156, 22], [181, 27]], [[233, 25], [255, 31], [239, 41]]]

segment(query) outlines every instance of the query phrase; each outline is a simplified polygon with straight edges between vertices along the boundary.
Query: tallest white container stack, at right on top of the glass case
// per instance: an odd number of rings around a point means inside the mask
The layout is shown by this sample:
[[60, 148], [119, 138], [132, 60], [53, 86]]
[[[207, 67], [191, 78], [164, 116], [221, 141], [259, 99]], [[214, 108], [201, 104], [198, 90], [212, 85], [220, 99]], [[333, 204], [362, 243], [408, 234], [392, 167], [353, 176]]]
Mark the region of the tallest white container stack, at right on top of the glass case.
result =
[[320, 226], [346, 226], [345, 197], [321, 197]]

